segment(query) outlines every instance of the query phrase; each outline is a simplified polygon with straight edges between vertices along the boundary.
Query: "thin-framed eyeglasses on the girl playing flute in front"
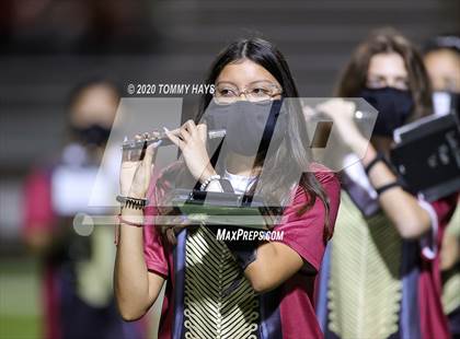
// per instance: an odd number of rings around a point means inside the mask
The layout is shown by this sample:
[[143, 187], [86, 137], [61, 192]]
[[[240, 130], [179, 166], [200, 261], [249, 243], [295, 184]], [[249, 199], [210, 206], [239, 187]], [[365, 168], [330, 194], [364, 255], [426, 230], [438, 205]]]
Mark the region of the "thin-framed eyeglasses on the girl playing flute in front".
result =
[[281, 93], [278, 85], [268, 81], [254, 82], [243, 91], [230, 83], [219, 83], [215, 87], [214, 98], [218, 105], [228, 105], [239, 101], [241, 94], [244, 94], [249, 102], [256, 103], [271, 101]]

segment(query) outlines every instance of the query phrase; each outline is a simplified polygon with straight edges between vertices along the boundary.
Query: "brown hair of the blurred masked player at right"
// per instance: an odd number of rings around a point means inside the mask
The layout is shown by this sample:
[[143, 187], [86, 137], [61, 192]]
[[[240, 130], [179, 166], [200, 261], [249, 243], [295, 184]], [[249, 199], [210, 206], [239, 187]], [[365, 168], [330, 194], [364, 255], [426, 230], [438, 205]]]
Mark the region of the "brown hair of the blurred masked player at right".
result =
[[336, 95], [356, 97], [366, 86], [370, 59], [377, 54], [396, 52], [403, 60], [409, 75], [409, 90], [414, 100], [410, 120], [432, 113], [432, 89], [417, 48], [401, 33], [391, 27], [372, 32], [355, 50], [340, 77]]

